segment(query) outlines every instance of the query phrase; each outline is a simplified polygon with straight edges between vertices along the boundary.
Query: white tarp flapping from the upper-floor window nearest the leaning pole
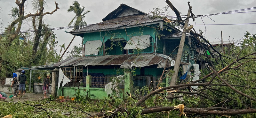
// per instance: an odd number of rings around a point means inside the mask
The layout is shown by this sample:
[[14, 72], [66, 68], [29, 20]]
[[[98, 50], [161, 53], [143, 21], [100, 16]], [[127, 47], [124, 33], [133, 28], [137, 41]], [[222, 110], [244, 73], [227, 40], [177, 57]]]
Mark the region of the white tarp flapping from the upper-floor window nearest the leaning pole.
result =
[[146, 49], [150, 46], [150, 35], [133, 36], [124, 49]]

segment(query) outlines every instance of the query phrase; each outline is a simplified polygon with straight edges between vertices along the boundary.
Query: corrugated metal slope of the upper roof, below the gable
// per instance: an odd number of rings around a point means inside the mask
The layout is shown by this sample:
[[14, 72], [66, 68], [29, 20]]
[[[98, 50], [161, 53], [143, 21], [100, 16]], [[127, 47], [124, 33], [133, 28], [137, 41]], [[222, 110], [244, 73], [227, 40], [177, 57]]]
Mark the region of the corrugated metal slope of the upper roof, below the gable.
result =
[[163, 19], [160, 19], [160, 18], [153, 19], [150, 15], [145, 15], [140, 13], [140, 14], [135, 14], [130, 16], [118, 17], [118, 18], [106, 20], [97, 24], [88, 25], [83, 28], [70, 31], [69, 33], [73, 34], [73, 33], [86, 32], [86, 31], [118, 28], [122, 26], [133, 26], [133, 25], [156, 22], [161, 20]]

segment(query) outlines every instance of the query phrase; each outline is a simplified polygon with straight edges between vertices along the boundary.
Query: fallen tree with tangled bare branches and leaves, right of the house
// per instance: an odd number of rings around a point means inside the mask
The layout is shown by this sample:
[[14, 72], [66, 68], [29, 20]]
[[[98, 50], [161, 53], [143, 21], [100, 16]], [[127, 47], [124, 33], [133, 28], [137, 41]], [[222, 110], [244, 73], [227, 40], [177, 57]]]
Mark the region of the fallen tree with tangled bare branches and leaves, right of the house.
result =
[[[180, 12], [174, 5], [171, 4], [169, 0], [166, 0], [166, 3], [177, 15], [177, 20], [169, 20], [180, 24], [180, 26], [184, 26], [184, 21], [187, 18], [182, 20]], [[189, 4], [188, 6], [190, 8]], [[193, 20], [195, 20], [196, 16], [192, 13], [191, 9], [190, 12], [191, 15], [188, 18], [193, 18]], [[162, 87], [155, 91], [148, 92], [147, 95], [140, 99], [134, 98], [128, 93], [130, 96], [129, 99], [136, 101], [134, 104], [130, 104], [130, 107], [127, 107], [125, 110], [114, 109], [110, 112], [99, 113], [97, 116], [116, 117], [118, 116], [116, 114], [125, 113], [127, 116], [138, 117], [138, 115], [134, 115], [134, 113], [132, 114], [130, 112], [136, 108], [136, 110], [140, 109], [137, 111], [138, 114], [163, 113], [164, 111], [178, 109], [180, 110], [180, 115], [217, 114], [232, 115], [234, 117], [237, 114], [256, 113], [256, 90], [254, 88], [254, 85], [256, 84], [256, 42], [254, 35], [247, 36], [247, 38], [244, 39], [244, 42], [241, 43], [241, 47], [233, 45], [232, 48], [226, 49], [228, 54], [224, 54], [214, 49], [203, 35], [201, 35], [202, 33], [197, 33], [194, 28], [193, 31], [189, 31], [189, 34], [200, 41], [198, 45], [202, 47], [205, 54], [206, 50], [211, 54], [211, 56], [205, 55], [209, 65], [206, 68], [207, 71], [200, 75], [200, 79], [196, 81], [187, 79], [187, 81], [182, 84]], [[208, 48], [207, 45], [209, 45], [211, 49]], [[215, 51], [216, 54], [211, 50]], [[168, 74], [169, 70], [168, 68], [164, 68], [160, 80], [157, 81], [157, 86], [162, 82], [164, 78], [163, 75]], [[199, 87], [198, 89], [193, 89], [191, 86]], [[168, 94], [175, 94], [175, 96], [170, 97]], [[152, 101], [152, 98], [155, 98], [155, 100]], [[177, 100], [177, 98], [183, 98], [183, 100]], [[173, 99], [172, 103], [168, 103], [168, 99]], [[148, 102], [152, 102], [152, 104], [148, 105]], [[195, 104], [189, 102], [195, 102]], [[175, 107], [177, 103], [181, 103], [178, 106], [184, 107]], [[158, 106], [159, 104], [168, 105]]]

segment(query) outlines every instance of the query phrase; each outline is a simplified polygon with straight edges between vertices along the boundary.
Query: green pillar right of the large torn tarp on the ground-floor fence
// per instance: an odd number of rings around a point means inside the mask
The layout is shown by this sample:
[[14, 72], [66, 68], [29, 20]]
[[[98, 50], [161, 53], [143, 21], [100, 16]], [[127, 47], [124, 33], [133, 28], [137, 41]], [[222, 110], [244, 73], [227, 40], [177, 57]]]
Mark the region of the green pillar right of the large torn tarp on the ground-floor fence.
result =
[[124, 95], [127, 96], [126, 92], [131, 93], [132, 92], [132, 77], [131, 72], [126, 71], [124, 72]]

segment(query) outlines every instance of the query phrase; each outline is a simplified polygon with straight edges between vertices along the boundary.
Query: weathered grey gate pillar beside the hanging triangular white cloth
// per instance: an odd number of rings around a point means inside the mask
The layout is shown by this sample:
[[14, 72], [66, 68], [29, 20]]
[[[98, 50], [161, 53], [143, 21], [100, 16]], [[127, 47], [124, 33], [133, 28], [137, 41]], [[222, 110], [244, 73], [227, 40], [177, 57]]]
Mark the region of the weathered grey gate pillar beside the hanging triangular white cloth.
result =
[[58, 84], [59, 69], [55, 68], [52, 70], [52, 87], [51, 87], [51, 95], [55, 96], [57, 93], [56, 85]]

